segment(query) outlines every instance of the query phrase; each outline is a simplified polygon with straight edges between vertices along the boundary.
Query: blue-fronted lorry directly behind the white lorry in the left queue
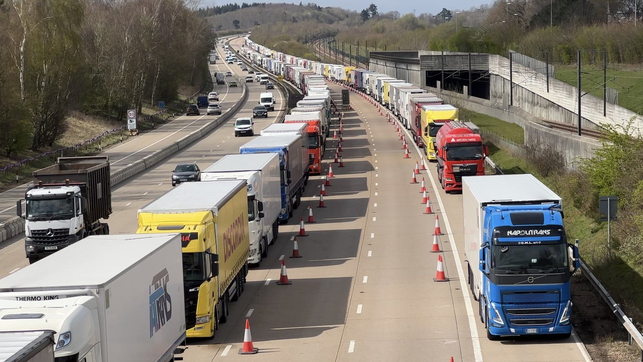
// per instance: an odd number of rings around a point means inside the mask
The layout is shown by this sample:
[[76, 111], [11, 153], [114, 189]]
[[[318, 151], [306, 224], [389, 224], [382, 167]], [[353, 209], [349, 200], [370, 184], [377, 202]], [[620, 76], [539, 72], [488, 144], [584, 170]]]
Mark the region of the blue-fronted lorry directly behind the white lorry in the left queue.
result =
[[239, 148], [239, 153], [278, 153], [279, 168], [282, 172], [282, 206], [279, 221], [288, 222], [293, 210], [302, 202], [305, 185], [308, 182], [308, 148], [300, 135], [256, 137]]

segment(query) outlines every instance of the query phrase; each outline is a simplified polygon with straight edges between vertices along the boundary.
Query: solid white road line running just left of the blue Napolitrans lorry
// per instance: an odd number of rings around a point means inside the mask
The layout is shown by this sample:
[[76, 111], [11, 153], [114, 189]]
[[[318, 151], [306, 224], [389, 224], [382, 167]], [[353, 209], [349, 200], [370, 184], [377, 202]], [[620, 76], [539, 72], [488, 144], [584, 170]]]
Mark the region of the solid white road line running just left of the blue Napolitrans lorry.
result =
[[[408, 136], [408, 138], [412, 138], [411, 134], [408, 132], [408, 129], [404, 128], [404, 133]], [[413, 142], [413, 148], [415, 148], [415, 151], [420, 157], [422, 156], [422, 153], [420, 152], [420, 149], [417, 147], [417, 144]], [[429, 170], [427, 172], [429, 176], [429, 180], [431, 180], [431, 186], [433, 186], [434, 190], [437, 190], [437, 184], [435, 184], [435, 179], [433, 178], [433, 174]], [[446, 210], [444, 208], [444, 204], [442, 203], [442, 197], [440, 197], [440, 193], [435, 193], [435, 198], [437, 198], [438, 205], [440, 206], [440, 210]], [[460, 253], [458, 252], [458, 247], [455, 243], [455, 239], [453, 238], [453, 231], [451, 231], [451, 224], [449, 223], [449, 218], [446, 213], [442, 214], [442, 221], [444, 221], [444, 227], [446, 227], [446, 232], [449, 236], [449, 242], [451, 242], [451, 246], [453, 247], [453, 258], [455, 258], [455, 269], [458, 271], [458, 278], [460, 279], [460, 292], [462, 292], [462, 296], [464, 297], [464, 306], [466, 307], [467, 310], [467, 319], [469, 319], [469, 332], [471, 332], [471, 343], [473, 345], [473, 357], [475, 357], [476, 362], [483, 362], [482, 360], [482, 347], [480, 347], [480, 338], [478, 337], [478, 326], [476, 323], [476, 316], [473, 313], [473, 307], [471, 305], [471, 296], [469, 296], [469, 287], [467, 286], [467, 280], [464, 276], [464, 271], [462, 270], [462, 264], [460, 263]], [[475, 265], [478, 265], [476, 262]]]

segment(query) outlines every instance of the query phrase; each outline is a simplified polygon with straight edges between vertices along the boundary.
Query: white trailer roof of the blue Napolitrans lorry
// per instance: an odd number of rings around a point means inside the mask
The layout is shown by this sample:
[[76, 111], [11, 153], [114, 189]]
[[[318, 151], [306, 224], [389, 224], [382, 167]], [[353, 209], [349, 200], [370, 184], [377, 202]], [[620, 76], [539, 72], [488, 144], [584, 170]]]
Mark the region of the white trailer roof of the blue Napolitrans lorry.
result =
[[[543, 203], [562, 202], [562, 198], [547, 186], [538, 181], [529, 173], [520, 175], [486, 175], [486, 176], [464, 176], [462, 184], [466, 184], [471, 193], [475, 195], [478, 202], [489, 204], [521, 204], [534, 200]], [[500, 192], [499, 190], [502, 190]], [[502, 200], [496, 200], [502, 195]]]

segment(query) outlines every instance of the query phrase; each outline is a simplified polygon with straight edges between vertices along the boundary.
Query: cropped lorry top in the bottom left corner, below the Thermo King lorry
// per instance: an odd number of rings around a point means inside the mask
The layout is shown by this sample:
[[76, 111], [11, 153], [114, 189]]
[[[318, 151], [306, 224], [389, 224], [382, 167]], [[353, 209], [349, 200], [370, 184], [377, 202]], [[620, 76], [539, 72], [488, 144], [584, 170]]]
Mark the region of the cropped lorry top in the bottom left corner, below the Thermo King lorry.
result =
[[0, 332], [0, 361], [54, 362], [53, 331]]

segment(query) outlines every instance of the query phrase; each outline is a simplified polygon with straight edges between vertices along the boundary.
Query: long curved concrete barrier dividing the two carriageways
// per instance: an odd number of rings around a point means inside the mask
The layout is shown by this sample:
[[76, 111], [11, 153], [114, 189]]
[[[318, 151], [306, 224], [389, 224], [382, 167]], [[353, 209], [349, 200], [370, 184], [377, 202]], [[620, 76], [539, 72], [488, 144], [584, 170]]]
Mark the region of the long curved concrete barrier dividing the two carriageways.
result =
[[[239, 84], [239, 82], [237, 84]], [[219, 118], [213, 120], [208, 124], [205, 124], [189, 135], [185, 135], [176, 142], [159, 149], [158, 151], [152, 153], [152, 155], [147, 155], [129, 166], [125, 166], [118, 171], [114, 171], [114, 173], [112, 173], [112, 175], [110, 176], [111, 187], [120, 184], [121, 182], [127, 180], [128, 178], [131, 178], [134, 175], [138, 175], [146, 169], [149, 169], [150, 167], [158, 164], [162, 160], [165, 160], [165, 158], [174, 155], [174, 153], [177, 153], [181, 149], [186, 148], [190, 144], [210, 133], [210, 131], [219, 126], [219, 124], [222, 124], [223, 122], [226, 122], [228, 119], [230, 119], [230, 117], [237, 110], [239, 110], [239, 108], [246, 102], [246, 100], [248, 100], [248, 88], [246, 88], [245, 83], [240, 84], [243, 88], [241, 98], [239, 99], [239, 101], [235, 102], [230, 110], [221, 113], [221, 116], [219, 116]], [[0, 224], [0, 242], [4, 242], [5, 240], [13, 238], [14, 236], [21, 233], [24, 233], [24, 218], [16, 216], [15, 218], [11, 218], [3, 224]]]

